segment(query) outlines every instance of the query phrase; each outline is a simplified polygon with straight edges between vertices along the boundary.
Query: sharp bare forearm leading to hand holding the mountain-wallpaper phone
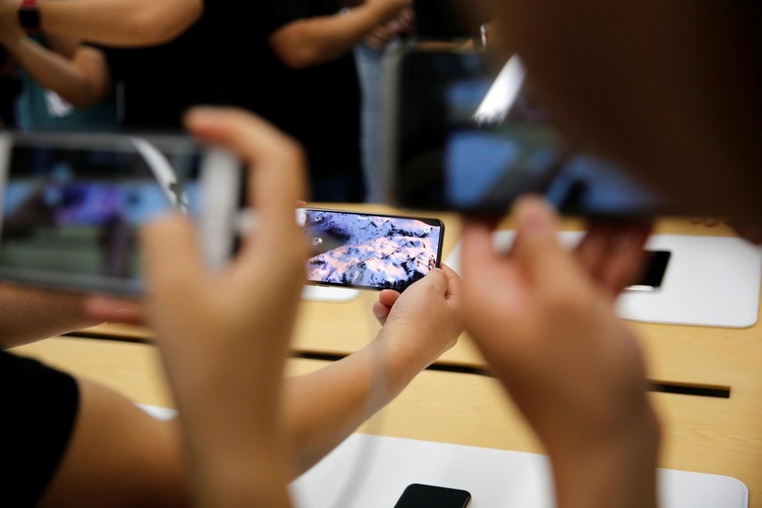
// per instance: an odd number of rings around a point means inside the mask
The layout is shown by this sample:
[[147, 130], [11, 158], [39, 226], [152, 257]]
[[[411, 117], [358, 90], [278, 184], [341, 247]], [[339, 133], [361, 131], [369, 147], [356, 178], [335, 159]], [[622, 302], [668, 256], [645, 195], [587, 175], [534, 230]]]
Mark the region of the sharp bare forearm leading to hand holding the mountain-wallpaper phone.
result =
[[288, 379], [285, 421], [295, 473], [311, 468], [392, 401], [434, 356], [379, 338], [317, 372]]

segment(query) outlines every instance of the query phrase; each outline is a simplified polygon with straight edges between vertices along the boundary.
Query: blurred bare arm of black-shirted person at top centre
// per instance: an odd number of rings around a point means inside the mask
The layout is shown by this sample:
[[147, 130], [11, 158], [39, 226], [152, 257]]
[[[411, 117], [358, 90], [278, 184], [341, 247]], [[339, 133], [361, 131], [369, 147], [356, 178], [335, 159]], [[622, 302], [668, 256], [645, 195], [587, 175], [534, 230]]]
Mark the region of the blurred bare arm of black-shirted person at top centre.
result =
[[350, 52], [408, 5], [409, 0], [370, 0], [343, 14], [292, 21], [271, 34], [270, 45], [293, 69], [329, 62]]

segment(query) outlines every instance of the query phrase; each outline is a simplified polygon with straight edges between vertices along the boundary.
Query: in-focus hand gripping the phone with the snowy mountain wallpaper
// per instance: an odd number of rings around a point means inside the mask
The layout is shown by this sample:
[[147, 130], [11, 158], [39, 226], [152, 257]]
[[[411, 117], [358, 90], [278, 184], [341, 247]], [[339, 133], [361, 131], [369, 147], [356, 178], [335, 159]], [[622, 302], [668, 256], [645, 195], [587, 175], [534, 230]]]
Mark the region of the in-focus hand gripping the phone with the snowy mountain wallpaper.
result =
[[458, 308], [462, 284], [458, 274], [443, 264], [402, 294], [384, 289], [373, 304], [373, 315], [383, 326], [379, 337], [415, 350], [415, 356], [430, 364], [463, 333]]

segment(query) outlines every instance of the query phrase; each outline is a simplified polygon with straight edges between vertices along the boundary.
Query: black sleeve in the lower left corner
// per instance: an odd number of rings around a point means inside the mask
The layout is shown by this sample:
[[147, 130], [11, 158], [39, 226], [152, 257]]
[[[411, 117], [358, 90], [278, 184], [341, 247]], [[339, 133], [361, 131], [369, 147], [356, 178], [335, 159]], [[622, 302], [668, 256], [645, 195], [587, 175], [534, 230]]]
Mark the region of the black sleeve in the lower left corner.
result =
[[37, 506], [66, 452], [79, 409], [71, 375], [0, 351], [3, 506]]

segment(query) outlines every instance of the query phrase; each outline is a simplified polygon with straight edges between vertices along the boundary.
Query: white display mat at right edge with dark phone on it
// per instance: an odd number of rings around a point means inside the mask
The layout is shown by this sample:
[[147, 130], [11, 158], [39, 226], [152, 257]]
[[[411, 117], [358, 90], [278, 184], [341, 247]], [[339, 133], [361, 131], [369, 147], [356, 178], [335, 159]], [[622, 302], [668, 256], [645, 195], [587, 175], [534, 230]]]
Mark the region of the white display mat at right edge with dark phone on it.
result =
[[[495, 248], [508, 251], [516, 233], [495, 233]], [[574, 248], [583, 232], [561, 232], [559, 240]], [[757, 323], [762, 283], [762, 249], [741, 238], [653, 235], [646, 248], [670, 251], [661, 289], [623, 292], [620, 317], [664, 324], [751, 327]], [[460, 270], [460, 244], [445, 264]]]

